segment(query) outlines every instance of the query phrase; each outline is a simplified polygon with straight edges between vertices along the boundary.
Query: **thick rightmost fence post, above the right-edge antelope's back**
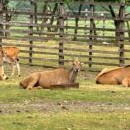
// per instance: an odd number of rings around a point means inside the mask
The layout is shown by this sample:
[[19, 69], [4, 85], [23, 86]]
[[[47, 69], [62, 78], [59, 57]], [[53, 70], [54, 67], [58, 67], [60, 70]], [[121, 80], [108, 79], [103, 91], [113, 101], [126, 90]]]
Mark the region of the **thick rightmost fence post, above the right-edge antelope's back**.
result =
[[119, 66], [124, 66], [125, 60], [124, 60], [124, 15], [125, 15], [125, 5], [122, 3], [120, 5], [120, 10], [119, 10]]

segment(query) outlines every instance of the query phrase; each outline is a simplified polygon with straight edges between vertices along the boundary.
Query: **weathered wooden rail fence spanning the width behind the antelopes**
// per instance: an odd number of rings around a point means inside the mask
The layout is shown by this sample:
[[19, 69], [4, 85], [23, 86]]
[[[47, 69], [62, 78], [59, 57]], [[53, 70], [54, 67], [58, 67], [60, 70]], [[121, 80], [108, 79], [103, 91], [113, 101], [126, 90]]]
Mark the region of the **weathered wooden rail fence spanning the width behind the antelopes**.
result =
[[38, 9], [41, 1], [24, 2], [29, 8], [0, 8], [1, 45], [18, 46], [21, 63], [67, 66], [79, 57], [85, 69], [96, 71], [130, 64], [130, 4], [43, 0]]

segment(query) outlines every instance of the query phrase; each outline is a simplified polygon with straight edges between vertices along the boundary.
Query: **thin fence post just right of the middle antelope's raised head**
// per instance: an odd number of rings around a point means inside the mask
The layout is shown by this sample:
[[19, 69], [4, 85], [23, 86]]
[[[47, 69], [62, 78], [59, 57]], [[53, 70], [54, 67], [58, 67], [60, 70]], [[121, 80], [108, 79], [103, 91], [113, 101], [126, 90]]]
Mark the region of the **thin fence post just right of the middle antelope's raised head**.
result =
[[94, 5], [93, 4], [90, 4], [90, 12], [91, 12], [91, 18], [90, 18], [90, 42], [89, 42], [89, 68], [92, 67], [92, 49], [93, 49], [93, 37], [92, 35], [94, 34], [94, 19], [93, 19], [93, 15], [94, 15]]

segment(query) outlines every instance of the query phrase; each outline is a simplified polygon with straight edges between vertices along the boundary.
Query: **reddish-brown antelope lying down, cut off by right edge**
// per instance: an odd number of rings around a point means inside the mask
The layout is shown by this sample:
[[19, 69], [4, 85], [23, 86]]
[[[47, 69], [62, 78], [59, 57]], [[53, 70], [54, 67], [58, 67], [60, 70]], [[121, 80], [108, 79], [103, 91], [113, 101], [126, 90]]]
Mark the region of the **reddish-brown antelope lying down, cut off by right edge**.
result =
[[129, 86], [130, 65], [115, 69], [103, 69], [96, 77], [97, 84], [123, 84]]

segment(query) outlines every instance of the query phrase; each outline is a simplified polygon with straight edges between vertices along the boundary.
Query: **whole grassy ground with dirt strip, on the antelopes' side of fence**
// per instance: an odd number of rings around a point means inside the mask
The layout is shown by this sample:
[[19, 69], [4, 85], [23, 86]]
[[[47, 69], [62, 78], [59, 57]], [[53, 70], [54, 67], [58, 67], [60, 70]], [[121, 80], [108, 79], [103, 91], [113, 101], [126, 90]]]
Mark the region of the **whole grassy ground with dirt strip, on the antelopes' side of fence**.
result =
[[[21, 77], [0, 82], [0, 130], [129, 130], [130, 89], [97, 85], [96, 73], [80, 72], [79, 89], [19, 88], [42, 67], [21, 65]], [[5, 72], [10, 75], [10, 65]]]

